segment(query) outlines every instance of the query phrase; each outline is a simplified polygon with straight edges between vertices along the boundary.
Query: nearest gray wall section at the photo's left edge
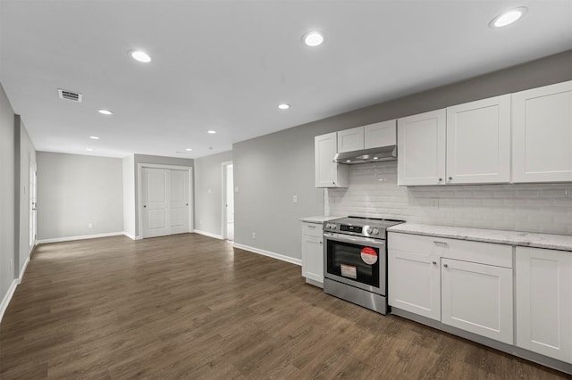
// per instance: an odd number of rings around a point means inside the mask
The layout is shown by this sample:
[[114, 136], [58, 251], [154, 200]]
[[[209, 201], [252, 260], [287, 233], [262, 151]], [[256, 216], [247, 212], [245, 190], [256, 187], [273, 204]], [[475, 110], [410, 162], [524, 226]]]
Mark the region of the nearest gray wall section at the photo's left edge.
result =
[[[0, 84], [0, 300], [8, 292], [15, 276], [14, 266], [14, 112]], [[12, 264], [13, 265], [13, 264]]]

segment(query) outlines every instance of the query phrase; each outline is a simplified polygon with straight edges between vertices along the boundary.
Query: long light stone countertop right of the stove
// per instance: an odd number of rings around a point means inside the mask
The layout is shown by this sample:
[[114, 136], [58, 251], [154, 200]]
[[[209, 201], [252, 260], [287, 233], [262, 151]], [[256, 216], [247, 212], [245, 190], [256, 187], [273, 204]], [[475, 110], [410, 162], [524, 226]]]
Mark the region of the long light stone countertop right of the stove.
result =
[[572, 252], [572, 235], [537, 234], [533, 232], [505, 231], [499, 229], [431, 226], [403, 223], [387, 228], [389, 232], [413, 235], [449, 237], [477, 242], [519, 245]]

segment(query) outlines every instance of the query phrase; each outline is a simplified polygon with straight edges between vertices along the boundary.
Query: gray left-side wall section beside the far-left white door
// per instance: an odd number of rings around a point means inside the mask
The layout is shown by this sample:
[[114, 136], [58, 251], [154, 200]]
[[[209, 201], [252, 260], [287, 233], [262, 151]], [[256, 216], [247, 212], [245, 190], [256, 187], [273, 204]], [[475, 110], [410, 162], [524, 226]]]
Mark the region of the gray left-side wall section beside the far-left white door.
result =
[[33, 247], [29, 246], [29, 175], [30, 170], [36, 170], [36, 148], [29, 138], [28, 131], [24, 126], [21, 117], [16, 115], [14, 120], [15, 140], [16, 140], [16, 188], [14, 189], [15, 203], [18, 205], [16, 211], [17, 220], [14, 223], [16, 228], [15, 250], [19, 252], [16, 255], [16, 276], [19, 276], [29, 253]]

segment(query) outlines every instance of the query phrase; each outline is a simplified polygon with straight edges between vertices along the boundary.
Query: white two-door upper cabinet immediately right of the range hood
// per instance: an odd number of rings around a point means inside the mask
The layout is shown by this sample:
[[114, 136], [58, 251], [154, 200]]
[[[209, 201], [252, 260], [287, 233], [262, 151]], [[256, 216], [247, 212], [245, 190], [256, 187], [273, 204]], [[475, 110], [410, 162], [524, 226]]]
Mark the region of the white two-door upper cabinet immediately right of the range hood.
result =
[[398, 120], [398, 185], [509, 183], [510, 95]]

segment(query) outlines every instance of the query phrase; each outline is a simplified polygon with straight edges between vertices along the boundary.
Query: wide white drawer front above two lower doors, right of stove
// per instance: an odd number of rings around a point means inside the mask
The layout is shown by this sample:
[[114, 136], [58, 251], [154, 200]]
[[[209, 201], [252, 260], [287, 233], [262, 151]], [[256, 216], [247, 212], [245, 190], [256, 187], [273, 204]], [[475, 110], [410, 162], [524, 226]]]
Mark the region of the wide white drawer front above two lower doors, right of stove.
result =
[[512, 268], [512, 246], [445, 237], [389, 233], [390, 250]]

